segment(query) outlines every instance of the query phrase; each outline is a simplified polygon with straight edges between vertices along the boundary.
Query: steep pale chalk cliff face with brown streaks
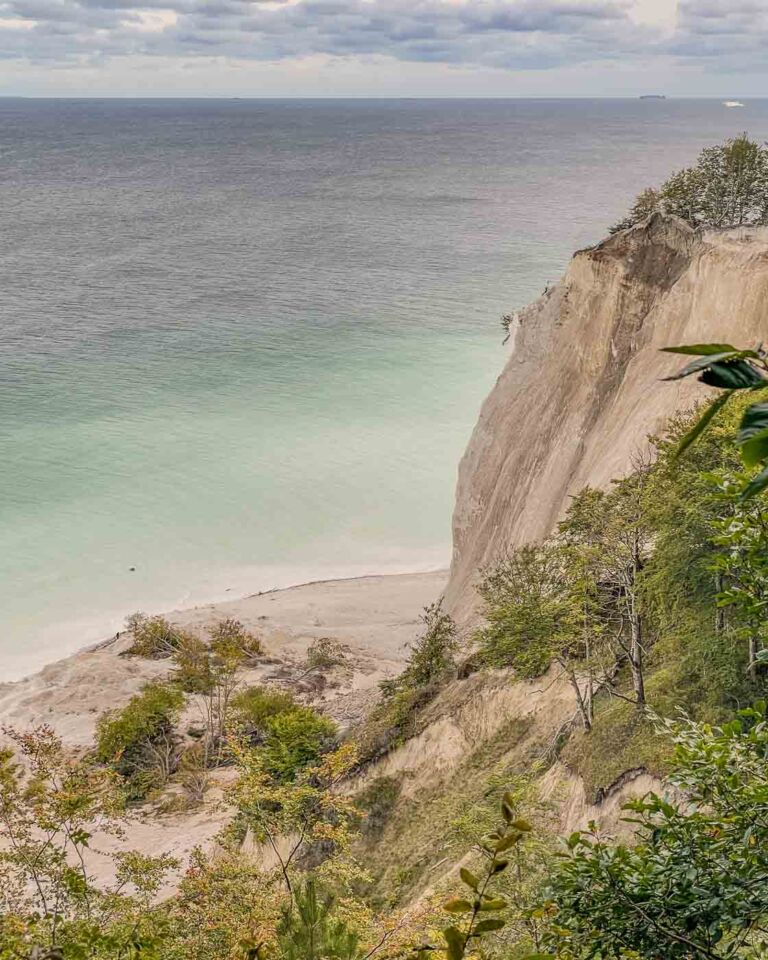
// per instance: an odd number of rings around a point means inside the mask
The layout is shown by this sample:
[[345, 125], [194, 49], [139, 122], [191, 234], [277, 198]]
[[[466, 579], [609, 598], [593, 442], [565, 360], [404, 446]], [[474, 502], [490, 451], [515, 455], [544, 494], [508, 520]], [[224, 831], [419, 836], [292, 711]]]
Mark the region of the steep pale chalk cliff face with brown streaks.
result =
[[577, 253], [519, 315], [504, 372], [459, 467], [446, 593], [462, 621], [477, 573], [546, 536], [568, 496], [620, 476], [649, 433], [705, 396], [659, 383], [679, 343], [768, 339], [768, 228], [699, 232], [654, 215]]

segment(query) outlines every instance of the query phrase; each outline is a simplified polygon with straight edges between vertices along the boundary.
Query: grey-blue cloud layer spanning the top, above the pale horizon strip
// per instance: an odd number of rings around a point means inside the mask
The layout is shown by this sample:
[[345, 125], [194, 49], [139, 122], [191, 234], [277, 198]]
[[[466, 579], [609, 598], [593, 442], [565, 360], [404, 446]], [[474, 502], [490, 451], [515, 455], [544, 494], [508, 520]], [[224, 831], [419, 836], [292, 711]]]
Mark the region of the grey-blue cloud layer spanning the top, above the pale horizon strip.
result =
[[676, 23], [670, 2], [0, 0], [0, 58], [66, 64], [132, 55], [320, 55], [517, 71], [670, 57], [724, 70], [761, 63], [765, 0], [728, 0], [727, 9], [722, 0], [681, 0]]

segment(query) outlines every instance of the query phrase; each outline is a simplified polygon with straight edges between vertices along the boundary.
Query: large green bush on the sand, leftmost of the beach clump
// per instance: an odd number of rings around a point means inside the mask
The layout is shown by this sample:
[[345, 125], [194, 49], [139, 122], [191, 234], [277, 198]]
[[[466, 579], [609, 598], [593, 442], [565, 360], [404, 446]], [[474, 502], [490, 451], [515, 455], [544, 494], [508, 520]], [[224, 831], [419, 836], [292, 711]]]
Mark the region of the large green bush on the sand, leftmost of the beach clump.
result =
[[183, 706], [180, 690], [155, 681], [121, 710], [99, 719], [96, 759], [123, 778], [128, 799], [143, 799], [175, 769], [178, 751], [173, 728]]

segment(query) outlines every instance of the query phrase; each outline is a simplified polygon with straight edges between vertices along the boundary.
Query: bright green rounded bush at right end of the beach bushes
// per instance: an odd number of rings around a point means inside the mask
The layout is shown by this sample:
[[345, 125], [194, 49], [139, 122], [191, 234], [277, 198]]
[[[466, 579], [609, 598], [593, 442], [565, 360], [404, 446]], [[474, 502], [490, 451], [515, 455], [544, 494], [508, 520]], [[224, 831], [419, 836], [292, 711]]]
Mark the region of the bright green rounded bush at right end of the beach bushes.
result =
[[336, 724], [311, 707], [294, 707], [266, 720], [264, 764], [275, 779], [293, 780], [303, 767], [330, 748]]

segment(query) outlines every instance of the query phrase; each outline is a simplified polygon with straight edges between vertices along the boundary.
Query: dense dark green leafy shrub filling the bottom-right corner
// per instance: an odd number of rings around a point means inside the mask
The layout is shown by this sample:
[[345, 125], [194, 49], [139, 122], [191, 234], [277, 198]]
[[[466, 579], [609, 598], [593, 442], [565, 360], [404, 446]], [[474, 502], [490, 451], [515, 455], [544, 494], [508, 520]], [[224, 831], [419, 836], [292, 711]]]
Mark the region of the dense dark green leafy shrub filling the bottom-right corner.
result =
[[757, 957], [768, 916], [765, 702], [721, 728], [666, 724], [681, 802], [649, 794], [626, 809], [616, 845], [594, 827], [569, 838], [549, 884], [550, 945], [569, 958]]

